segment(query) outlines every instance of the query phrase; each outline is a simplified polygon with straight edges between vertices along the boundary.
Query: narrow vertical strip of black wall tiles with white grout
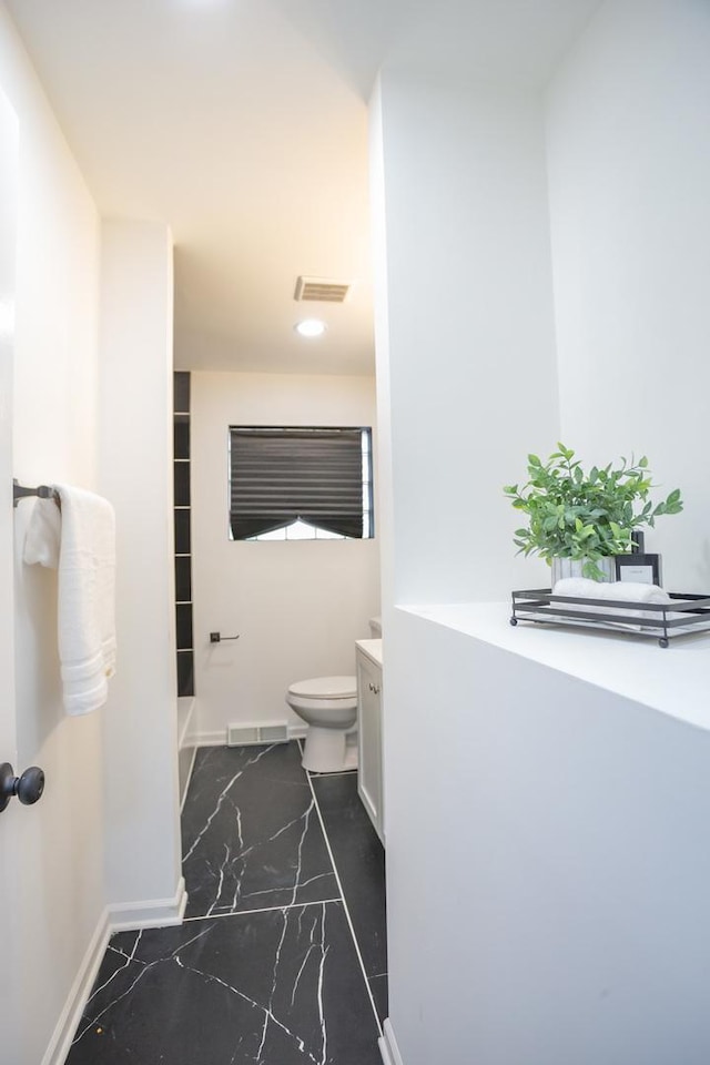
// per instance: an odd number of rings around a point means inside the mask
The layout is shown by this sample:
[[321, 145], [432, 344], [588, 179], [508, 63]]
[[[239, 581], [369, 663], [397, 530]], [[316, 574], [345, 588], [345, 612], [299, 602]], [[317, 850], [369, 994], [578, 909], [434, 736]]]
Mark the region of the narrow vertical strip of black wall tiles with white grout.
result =
[[173, 485], [175, 523], [175, 631], [178, 694], [194, 696], [190, 466], [190, 374], [173, 374]]

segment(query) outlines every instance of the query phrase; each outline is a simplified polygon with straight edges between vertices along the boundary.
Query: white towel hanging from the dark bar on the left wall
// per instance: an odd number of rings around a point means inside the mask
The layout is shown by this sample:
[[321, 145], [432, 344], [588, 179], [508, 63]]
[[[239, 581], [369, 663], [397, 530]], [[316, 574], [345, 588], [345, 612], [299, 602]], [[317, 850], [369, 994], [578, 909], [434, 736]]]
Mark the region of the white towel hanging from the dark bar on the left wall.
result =
[[58, 567], [58, 642], [67, 713], [89, 713], [109, 694], [115, 672], [115, 528], [108, 500], [82, 488], [52, 485], [38, 499], [24, 542], [24, 561]]

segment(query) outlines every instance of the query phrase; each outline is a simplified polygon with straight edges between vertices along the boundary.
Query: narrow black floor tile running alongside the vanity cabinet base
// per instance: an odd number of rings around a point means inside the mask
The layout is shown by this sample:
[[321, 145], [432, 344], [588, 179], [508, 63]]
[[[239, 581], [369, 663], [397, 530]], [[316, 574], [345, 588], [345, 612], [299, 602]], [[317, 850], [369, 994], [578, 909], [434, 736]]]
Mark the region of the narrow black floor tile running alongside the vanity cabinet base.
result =
[[387, 972], [384, 848], [357, 794], [356, 773], [314, 777], [312, 784], [365, 972], [379, 977]]

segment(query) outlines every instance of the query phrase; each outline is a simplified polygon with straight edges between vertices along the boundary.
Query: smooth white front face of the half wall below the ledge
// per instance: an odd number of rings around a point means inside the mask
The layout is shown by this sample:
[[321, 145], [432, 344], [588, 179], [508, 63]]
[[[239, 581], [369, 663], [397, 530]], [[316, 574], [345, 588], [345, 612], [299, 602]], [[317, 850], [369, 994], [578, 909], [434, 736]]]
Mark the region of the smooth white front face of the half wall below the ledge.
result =
[[[386, 804], [402, 1061], [704, 1065], [710, 732], [569, 676], [579, 646], [557, 668], [503, 650], [496, 625], [396, 611], [387, 635], [387, 728], [407, 738]], [[681, 647], [627, 650], [631, 671], [653, 655], [682, 671]]]

